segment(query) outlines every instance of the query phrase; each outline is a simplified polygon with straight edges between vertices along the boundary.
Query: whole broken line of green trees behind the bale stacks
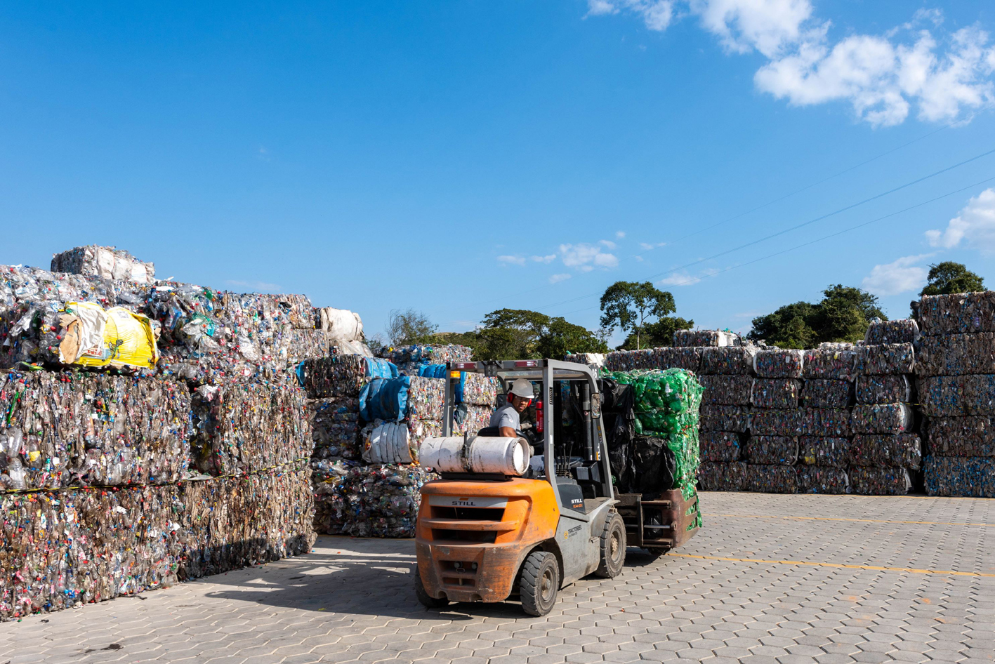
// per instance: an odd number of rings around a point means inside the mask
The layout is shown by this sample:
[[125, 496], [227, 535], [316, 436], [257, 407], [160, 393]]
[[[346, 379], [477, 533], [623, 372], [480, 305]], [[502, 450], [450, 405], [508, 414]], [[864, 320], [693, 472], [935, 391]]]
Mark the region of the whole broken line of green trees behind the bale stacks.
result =
[[[919, 295], [984, 290], [981, 276], [958, 262], [929, 266]], [[747, 338], [781, 348], [813, 348], [822, 342], [854, 342], [864, 338], [874, 318], [888, 317], [878, 297], [843, 284], [831, 285], [818, 302], [794, 302], [752, 320]], [[439, 332], [424, 313], [413, 309], [390, 312], [381, 345], [461, 344], [474, 349], [477, 360], [562, 358], [570, 353], [607, 353], [616, 329], [625, 340], [616, 350], [670, 346], [677, 330], [690, 330], [695, 321], [675, 315], [673, 293], [650, 281], [616, 281], [600, 300], [601, 327], [576, 325], [562, 316], [528, 309], [497, 309], [469, 332]], [[914, 310], [913, 310], [914, 316]]]

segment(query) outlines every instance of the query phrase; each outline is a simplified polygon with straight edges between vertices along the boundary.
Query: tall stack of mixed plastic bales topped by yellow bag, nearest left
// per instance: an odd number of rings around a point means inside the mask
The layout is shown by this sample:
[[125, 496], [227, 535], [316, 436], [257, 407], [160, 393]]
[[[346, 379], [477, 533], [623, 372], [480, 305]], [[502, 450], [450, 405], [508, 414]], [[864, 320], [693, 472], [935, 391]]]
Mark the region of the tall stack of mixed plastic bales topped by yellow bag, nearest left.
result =
[[[0, 618], [307, 551], [311, 435], [287, 371], [323, 354], [306, 298], [155, 281], [112, 248], [53, 267], [77, 273], [0, 267]], [[107, 309], [105, 330], [122, 307], [145, 359], [91, 327], [109, 364], [64, 363], [69, 319], [94, 312], [72, 302]]]

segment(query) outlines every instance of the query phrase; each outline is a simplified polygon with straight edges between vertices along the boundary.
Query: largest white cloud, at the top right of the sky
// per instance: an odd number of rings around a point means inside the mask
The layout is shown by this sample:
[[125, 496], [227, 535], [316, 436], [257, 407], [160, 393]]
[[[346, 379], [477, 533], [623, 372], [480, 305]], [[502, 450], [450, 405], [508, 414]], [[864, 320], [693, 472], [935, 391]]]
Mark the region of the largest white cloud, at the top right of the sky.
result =
[[[596, 11], [594, 4], [598, 4]], [[649, 3], [589, 0], [589, 14], [621, 11], [639, 16]], [[911, 21], [882, 35], [830, 38], [832, 23], [813, 16], [810, 0], [681, 0], [730, 53], [756, 51], [769, 61], [755, 74], [756, 87], [806, 106], [849, 103], [875, 126], [898, 124], [911, 107], [927, 121], [969, 118], [995, 100], [995, 46], [977, 26], [943, 31], [939, 10], [915, 12]], [[675, 6], [669, 8], [674, 14]]]

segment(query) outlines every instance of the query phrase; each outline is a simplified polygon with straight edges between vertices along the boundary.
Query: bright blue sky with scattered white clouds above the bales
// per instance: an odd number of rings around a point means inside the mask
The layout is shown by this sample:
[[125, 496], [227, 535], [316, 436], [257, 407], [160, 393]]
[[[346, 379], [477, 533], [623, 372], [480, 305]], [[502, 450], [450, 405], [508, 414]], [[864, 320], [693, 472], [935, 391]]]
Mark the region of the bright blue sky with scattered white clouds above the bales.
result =
[[2, 7], [0, 263], [115, 245], [370, 334], [593, 328], [618, 279], [743, 331], [833, 283], [903, 316], [943, 259], [995, 283], [990, 2]]

